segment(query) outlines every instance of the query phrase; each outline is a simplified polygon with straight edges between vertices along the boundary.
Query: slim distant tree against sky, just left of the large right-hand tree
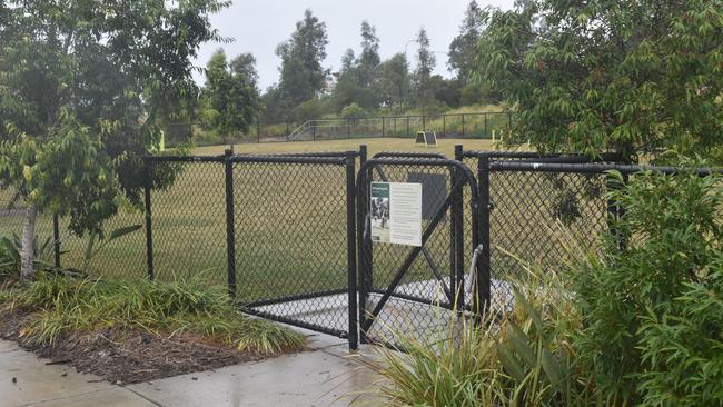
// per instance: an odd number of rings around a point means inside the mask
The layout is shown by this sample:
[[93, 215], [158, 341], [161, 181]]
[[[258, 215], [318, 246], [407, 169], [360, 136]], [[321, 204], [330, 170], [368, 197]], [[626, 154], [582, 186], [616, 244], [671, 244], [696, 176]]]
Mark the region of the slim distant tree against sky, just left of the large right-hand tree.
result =
[[457, 79], [464, 85], [472, 80], [475, 68], [475, 51], [482, 32], [482, 9], [476, 0], [467, 6], [464, 21], [459, 27], [459, 34], [449, 44], [449, 70], [456, 72]]

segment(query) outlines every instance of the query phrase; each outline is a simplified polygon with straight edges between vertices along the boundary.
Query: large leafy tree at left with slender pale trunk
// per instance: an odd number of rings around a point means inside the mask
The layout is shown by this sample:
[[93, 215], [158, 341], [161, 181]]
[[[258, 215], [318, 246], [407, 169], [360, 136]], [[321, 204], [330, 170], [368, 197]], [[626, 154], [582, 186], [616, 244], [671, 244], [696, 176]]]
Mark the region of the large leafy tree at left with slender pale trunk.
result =
[[[225, 1], [0, 2], [0, 186], [27, 204], [21, 276], [33, 276], [38, 211], [101, 232], [118, 197], [140, 201], [158, 122], [197, 93], [190, 60], [224, 40]], [[167, 181], [158, 176], [153, 185]]]

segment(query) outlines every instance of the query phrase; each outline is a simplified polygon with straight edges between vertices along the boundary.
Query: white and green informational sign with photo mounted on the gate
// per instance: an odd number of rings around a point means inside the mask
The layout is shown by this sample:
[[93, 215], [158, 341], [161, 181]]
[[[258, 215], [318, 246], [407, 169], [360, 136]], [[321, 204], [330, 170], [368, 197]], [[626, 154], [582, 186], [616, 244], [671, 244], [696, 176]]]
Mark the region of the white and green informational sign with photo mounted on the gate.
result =
[[422, 246], [422, 183], [372, 182], [372, 241]]

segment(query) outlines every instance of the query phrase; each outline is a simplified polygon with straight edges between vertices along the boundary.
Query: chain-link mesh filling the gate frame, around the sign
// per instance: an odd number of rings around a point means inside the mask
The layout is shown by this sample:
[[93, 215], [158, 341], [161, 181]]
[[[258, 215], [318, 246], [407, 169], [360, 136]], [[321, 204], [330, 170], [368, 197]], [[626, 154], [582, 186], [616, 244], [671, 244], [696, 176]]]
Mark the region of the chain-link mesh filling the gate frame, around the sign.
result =
[[[420, 162], [422, 161], [422, 162]], [[365, 261], [366, 274], [363, 285], [367, 292], [361, 305], [365, 315], [374, 319], [367, 320], [366, 337], [370, 341], [395, 343], [395, 335], [405, 334], [420, 340], [437, 340], [447, 337], [449, 324], [455, 317], [452, 310], [455, 306], [455, 294], [464, 292], [465, 304], [473, 298], [471, 276], [467, 274], [472, 258], [472, 228], [459, 229], [458, 241], [453, 241], [453, 207], [465, 226], [472, 224], [469, 201], [462, 196], [468, 187], [465, 178], [453, 178], [448, 167], [428, 166], [424, 160], [415, 159], [409, 165], [378, 165], [369, 173], [369, 181], [382, 182], [417, 182], [423, 190], [423, 231], [435, 222], [435, 216], [442, 212], [434, 231], [414, 258], [408, 268], [405, 261], [413, 250], [409, 246], [394, 244], [367, 245], [360, 254], [359, 261]], [[445, 201], [449, 193], [459, 185], [458, 195]], [[369, 214], [368, 227], [384, 232], [378, 217]], [[360, 225], [366, 228], [367, 226]], [[382, 228], [382, 229], [379, 229]], [[365, 235], [372, 230], [365, 230]], [[458, 255], [455, 254], [455, 247]], [[364, 257], [364, 258], [361, 258]], [[456, 260], [458, 260], [458, 264]], [[370, 271], [370, 272], [369, 272]], [[459, 291], [457, 291], [459, 290]], [[385, 299], [385, 297], [388, 297]], [[386, 301], [378, 314], [374, 314], [379, 304]], [[460, 302], [456, 304], [462, 308]]]

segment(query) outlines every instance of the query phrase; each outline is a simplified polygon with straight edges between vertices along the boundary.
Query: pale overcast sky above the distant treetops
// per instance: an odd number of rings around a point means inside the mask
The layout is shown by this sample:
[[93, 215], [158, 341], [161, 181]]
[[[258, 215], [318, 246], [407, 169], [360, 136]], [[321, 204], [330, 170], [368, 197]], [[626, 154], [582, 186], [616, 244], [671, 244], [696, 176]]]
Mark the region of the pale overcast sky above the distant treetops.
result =
[[[512, 7], [514, 0], [478, 0], [481, 7]], [[348, 48], [359, 50], [359, 27], [363, 20], [377, 28], [380, 39], [379, 53], [386, 59], [403, 52], [405, 44], [415, 38], [420, 27], [427, 29], [432, 50], [437, 53], [437, 73], [448, 76], [447, 49], [457, 34], [468, 0], [235, 0], [234, 4], [215, 14], [211, 20], [221, 36], [232, 37], [229, 44], [206, 43], [196, 61], [206, 66], [211, 53], [219, 47], [229, 58], [242, 52], [256, 57], [261, 89], [278, 81], [279, 58], [276, 46], [286, 41], [305, 9], [326, 22], [329, 44], [326, 67], [337, 70], [341, 56]], [[407, 57], [414, 66], [415, 43], [407, 47]], [[196, 79], [202, 83], [202, 75]]]

